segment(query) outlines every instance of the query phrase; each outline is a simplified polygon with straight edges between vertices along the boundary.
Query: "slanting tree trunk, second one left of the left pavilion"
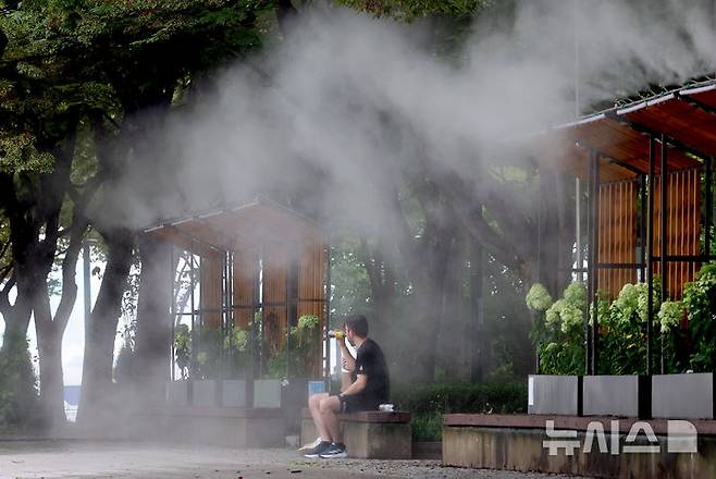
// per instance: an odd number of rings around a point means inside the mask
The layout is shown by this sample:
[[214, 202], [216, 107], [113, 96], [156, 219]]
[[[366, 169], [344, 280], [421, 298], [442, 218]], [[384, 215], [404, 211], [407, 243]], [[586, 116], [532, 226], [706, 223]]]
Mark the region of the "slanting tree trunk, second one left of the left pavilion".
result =
[[[112, 365], [114, 339], [121, 315], [124, 286], [132, 266], [132, 234], [127, 230], [106, 232], [108, 260], [95, 308], [85, 324], [82, 395], [77, 422], [89, 431], [111, 432], [116, 420]], [[114, 420], [113, 420], [114, 419]]]

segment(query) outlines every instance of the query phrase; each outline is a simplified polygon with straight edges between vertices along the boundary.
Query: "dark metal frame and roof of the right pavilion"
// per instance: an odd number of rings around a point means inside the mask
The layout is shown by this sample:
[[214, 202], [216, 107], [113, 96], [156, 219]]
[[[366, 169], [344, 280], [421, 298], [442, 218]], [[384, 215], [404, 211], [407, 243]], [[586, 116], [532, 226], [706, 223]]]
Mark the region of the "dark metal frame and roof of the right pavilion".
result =
[[[573, 149], [575, 146], [578, 150], [583, 151], [583, 155], [575, 157], [573, 163], [569, 165], [571, 171], [581, 171], [577, 174], [587, 180], [587, 236], [588, 236], [588, 251], [587, 251], [587, 268], [581, 263], [577, 268], [572, 268], [572, 273], [587, 272], [587, 290], [590, 304], [595, 305], [598, 294], [598, 272], [601, 270], [609, 269], [633, 269], [640, 273], [639, 280], [647, 283], [649, 291], [649, 305], [647, 315], [650, 320], [646, 321], [646, 358], [645, 369], [646, 374], [655, 372], [655, 365], [653, 365], [654, 348], [659, 351], [659, 365], [658, 370], [664, 372], [664, 361], [661, 354], [662, 345], [656, 344], [657, 337], [653, 331], [652, 321], [656, 314], [654, 310], [654, 275], [656, 266], [659, 266], [662, 274], [662, 285], [658, 292], [661, 300], [664, 302], [668, 298], [668, 265], [670, 262], [687, 262], [687, 263], [701, 263], [716, 260], [716, 254], [712, 254], [712, 242], [709, 238], [708, 230], [706, 230], [703, 253], [696, 255], [672, 255], [668, 251], [667, 236], [669, 233], [669, 218], [667, 210], [669, 208], [669, 186], [666, 181], [670, 172], [677, 170], [684, 170], [688, 168], [700, 168], [703, 171], [705, 182], [705, 211], [703, 214], [702, 226], [714, 226], [714, 194], [716, 185], [714, 182], [714, 156], [716, 156], [716, 140], [711, 142], [711, 137], [705, 134], [699, 136], [699, 132], [706, 128], [703, 121], [694, 128], [695, 133], [684, 138], [677, 138], [674, 132], [669, 132], [668, 121], [664, 120], [668, 108], [677, 111], [683, 110], [681, 103], [686, 103], [689, 108], [696, 110], [694, 114], [705, 114], [713, 120], [713, 135], [716, 138], [716, 81], [709, 81], [700, 84], [695, 87], [680, 88], [669, 91], [650, 99], [639, 101], [637, 103], [628, 105], [624, 108], [615, 108], [602, 113], [587, 116], [579, 121], [569, 123], [567, 125], [559, 125], [547, 135], [558, 136], [560, 139], [567, 139], [565, 150]], [[652, 124], [644, 124], [643, 118], [651, 120], [647, 114], [650, 108], [654, 107], [656, 113]], [[662, 111], [664, 110], [664, 111]], [[689, 110], [691, 112], [691, 110]], [[639, 116], [641, 115], [641, 116]], [[646, 116], [645, 116], [646, 115]], [[632, 118], [637, 116], [637, 118]], [[642, 119], [640, 121], [640, 118]], [[666, 116], [668, 119], [668, 116]], [[663, 123], [657, 121], [662, 119]], [[703, 120], [703, 119], [702, 119]], [[691, 118], [679, 118], [681, 124], [683, 122], [695, 121]], [[704, 120], [705, 121], [705, 120]], [[612, 139], [604, 139], [608, 135], [603, 132], [589, 132], [587, 128], [590, 124], [597, 124], [598, 122], [610, 122], [609, 125], [604, 126], [604, 131], [608, 130], [607, 126], [614, 130], [614, 124], [621, 128], [638, 134], [641, 142], [647, 143], [647, 162], [638, 158], [616, 158], [614, 152], [619, 151], [619, 145], [613, 145]], [[676, 125], [677, 123], [675, 123]], [[683, 133], [684, 131], [677, 131]], [[591, 136], [590, 136], [591, 135]], [[633, 138], [631, 139], [634, 142]], [[658, 150], [657, 150], [658, 147]], [[658, 152], [658, 155], [657, 155]], [[551, 152], [554, 155], [554, 152]], [[566, 153], [565, 156], [568, 156]], [[658, 158], [657, 158], [658, 157]], [[696, 160], [700, 159], [701, 161]], [[551, 161], [551, 160], [547, 160]], [[689, 167], [688, 163], [692, 162], [693, 165]], [[674, 164], [672, 164], [674, 163]], [[644, 168], [646, 167], [646, 168]], [[657, 171], [658, 168], [658, 171]], [[585, 174], [584, 174], [585, 171]], [[621, 174], [625, 179], [632, 179], [639, 183], [639, 214], [638, 214], [638, 231], [640, 240], [639, 259], [637, 262], [600, 262], [600, 187], [602, 186], [602, 176], [609, 174]], [[659, 208], [658, 216], [656, 214], [656, 183], [657, 179], [661, 180], [659, 186]], [[578, 198], [579, 210], [579, 198]], [[579, 211], [578, 211], [579, 218]], [[655, 229], [656, 222], [659, 224], [658, 246], [659, 254], [655, 254]], [[579, 231], [579, 226], [578, 226]], [[581, 243], [581, 238], [577, 238], [577, 243]], [[578, 258], [581, 258], [581, 251], [578, 251]], [[584, 370], [587, 374], [594, 374], [598, 371], [597, 366], [600, 361], [600, 344], [598, 344], [598, 311], [596, 307], [591, 308], [591, 314], [588, 311], [584, 315], [584, 335], [585, 335], [585, 364]], [[591, 324], [590, 324], [591, 322]], [[661, 337], [661, 335], [659, 335]], [[715, 360], [716, 370], [716, 360]]]

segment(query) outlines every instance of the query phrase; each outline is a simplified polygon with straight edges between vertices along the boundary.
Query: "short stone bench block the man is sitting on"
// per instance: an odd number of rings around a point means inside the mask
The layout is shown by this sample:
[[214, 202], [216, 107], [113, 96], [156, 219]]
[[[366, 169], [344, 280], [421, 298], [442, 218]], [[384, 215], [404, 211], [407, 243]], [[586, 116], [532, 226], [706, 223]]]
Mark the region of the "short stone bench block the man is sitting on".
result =
[[[350, 457], [362, 459], [409, 459], [412, 455], [410, 413], [363, 410], [338, 415], [343, 440]], [[300, 442], [318, 438], [307, 407], [301, 412]]]

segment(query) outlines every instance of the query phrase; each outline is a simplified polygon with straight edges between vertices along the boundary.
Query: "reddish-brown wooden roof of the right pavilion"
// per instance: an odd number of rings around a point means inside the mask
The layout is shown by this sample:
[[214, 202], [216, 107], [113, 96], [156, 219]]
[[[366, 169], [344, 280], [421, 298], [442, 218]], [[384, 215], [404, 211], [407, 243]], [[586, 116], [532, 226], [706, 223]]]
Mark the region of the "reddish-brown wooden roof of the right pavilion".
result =
[[682, 87], [616, 107], [539, 135], [538, 161], [587, 177], [590, 151], [602, 158], [600, 176], [617, 181], [649, 173], [650, 138], [656, 139], [655, 172], [661, 170], [661, 137], [669, 171], [696, 168], [716, 156], [716, 81]]

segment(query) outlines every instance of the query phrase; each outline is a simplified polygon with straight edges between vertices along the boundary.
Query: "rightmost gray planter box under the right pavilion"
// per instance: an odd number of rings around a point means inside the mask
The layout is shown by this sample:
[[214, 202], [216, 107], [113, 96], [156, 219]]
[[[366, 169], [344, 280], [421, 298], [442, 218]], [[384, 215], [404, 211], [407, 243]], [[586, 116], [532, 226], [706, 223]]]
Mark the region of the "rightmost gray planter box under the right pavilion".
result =
[[652, 377], [655, 418], [713, 419], [714, 374], [656, 374]]

